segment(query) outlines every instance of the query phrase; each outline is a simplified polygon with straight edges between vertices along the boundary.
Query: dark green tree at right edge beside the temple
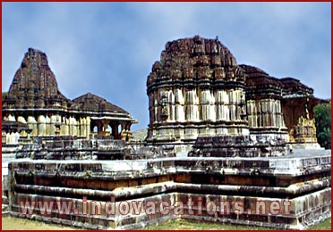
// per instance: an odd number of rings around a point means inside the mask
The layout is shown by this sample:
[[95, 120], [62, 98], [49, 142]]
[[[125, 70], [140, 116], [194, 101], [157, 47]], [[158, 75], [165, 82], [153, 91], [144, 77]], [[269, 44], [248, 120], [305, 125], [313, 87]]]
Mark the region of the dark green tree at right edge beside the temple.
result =
[[330, 149], [330, 102], [316, 105], [313, 113], [316, 120], [318, 143], [325, 149]]

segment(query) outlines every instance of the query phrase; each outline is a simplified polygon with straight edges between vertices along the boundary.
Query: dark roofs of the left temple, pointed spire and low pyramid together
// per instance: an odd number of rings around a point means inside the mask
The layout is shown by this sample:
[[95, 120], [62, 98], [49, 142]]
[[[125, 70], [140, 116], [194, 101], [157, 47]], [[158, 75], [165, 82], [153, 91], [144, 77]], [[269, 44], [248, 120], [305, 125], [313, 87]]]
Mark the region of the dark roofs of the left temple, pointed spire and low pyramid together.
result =
[[33, 48], [24, 54], [2, 106], [3, 112], [87, 113], [95, 118], [136, 121], [129, 112], [98, 95], [88, 93], [73, 101], [65, 97], [48, 66], [47, 54]]

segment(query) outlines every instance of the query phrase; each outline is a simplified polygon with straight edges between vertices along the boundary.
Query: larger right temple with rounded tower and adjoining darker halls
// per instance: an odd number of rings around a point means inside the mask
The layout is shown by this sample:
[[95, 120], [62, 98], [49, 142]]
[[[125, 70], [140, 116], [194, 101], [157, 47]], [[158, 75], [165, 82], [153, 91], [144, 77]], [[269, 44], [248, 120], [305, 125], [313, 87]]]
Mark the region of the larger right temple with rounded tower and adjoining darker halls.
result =
[[147, 79], [150, 144], [250, 136], [318, 146], [313, 107], [323, 102], [297, 79], [237, 65], [218, 39], [166, 43]]

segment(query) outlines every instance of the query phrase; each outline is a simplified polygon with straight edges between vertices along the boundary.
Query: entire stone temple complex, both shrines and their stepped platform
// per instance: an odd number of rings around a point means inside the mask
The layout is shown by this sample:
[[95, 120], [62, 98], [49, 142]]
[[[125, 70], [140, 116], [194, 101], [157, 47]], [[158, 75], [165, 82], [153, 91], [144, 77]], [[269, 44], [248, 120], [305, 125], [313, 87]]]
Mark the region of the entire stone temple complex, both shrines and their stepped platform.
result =
[[[175, 219], [304, 229], [331, 216], [331, 151], [312, 112], [325, 101], [312, 88], [195, 36], [166, 43], [147, 94], [147, 137], [130, 141], [128, 112], [97, 95], [67, 99], [30, 49], [3, 102], [3, 216], [92, 229]], [[59, 202], [73, 211], [40, 204]]]

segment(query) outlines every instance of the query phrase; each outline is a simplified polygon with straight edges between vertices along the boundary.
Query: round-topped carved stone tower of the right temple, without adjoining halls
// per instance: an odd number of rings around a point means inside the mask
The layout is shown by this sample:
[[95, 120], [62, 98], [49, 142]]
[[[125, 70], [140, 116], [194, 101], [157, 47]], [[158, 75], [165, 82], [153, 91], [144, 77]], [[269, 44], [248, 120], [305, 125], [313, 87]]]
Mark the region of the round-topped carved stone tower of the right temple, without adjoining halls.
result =
[[199, 135], [249, 134], [245, 79], [218, 39], [166, 43], [147, 81], [149, 142], [191, 142]]

